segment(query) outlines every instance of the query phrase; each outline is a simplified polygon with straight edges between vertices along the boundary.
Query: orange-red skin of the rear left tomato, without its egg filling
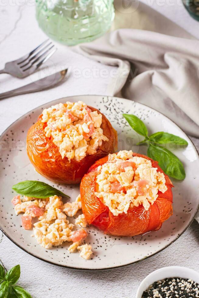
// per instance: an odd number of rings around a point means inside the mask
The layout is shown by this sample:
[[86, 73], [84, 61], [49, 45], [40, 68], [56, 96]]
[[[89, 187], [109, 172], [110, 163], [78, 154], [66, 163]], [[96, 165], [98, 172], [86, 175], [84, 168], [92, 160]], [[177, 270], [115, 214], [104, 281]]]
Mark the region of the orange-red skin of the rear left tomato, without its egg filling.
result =
[[[89, 108], [92, 111], [98, 109]], [[91, 165], [103, 158], [109, 153], [113, 153], [117, 148], [117, 132], [102, 114], [103, 134], [108, 137], [109, 141], [103, 141], [98, 147], [97, 152], [93, 155], [87, 155], [81, 161], [71, 160], [61, 157], [58, 147], [53, 143], [51, 138], [45, 136], [44, 128], [46, 123], [41, 122], [42, 115], [38, 121], [33, 124], [27, 133], [27, 154], [34, 168], [44, 177], [65, 184], [80, 183], [83, 175], [88, 171]]]

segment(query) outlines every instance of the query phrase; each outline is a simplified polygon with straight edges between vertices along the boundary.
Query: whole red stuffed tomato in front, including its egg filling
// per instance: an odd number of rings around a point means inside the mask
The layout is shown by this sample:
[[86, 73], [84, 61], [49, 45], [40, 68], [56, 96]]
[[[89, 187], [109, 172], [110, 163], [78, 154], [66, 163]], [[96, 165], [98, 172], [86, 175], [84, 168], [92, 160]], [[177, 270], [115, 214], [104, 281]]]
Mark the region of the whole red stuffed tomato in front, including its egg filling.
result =
[[82, 211], [105, 234], [143, 234], [172, 215], [172, 187], [157, 161], [120, 151], [96, 161], [82, 178]]

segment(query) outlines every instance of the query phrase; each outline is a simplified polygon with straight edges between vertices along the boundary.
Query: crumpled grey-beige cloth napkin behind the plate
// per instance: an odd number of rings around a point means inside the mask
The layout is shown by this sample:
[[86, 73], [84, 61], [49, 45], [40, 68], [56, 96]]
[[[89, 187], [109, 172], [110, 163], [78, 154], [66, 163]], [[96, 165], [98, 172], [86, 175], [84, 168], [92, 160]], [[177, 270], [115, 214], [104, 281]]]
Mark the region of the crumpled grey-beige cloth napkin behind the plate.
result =
[[[150, 106], [199, 137], [199, 41], [118, 29], [74, 50], [118, 67], [109, 95]], [[110, 74], [111, 75], [111, 74]]]

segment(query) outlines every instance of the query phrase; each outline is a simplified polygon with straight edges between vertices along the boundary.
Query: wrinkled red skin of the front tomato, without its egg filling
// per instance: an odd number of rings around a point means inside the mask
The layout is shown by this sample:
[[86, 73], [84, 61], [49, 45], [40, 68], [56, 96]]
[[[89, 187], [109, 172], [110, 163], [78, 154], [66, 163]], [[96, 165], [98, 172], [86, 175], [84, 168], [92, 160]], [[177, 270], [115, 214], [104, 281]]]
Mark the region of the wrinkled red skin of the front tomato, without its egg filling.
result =
[[80, 194], [82, 201], [82, 212], [89, 224], [93, 224], [105, 234], [115, 236], [135, 236], [152, 230], [159, 230], [162, 222], [167, 220], [173, 213], [172, 202], [173, 184], [169, 177], [159, 167], [157, 161], [153, 161], [148, 156], [133, 153], [133, 156], [139, 156], [152, 161], [152, 166], [158, 168], [158, 171], [165, 175], [167, 191], [163, 194], [158, 192], [158, 198], [149, 210], [141, 205], [129, 208], [127, 213], [121, 213], [114, 216], [109, 208], [95, 196], [95, 183], [97, 167], [103, 165], [108, 156], [98, 160], [92, 165], [88, 172], [82, 178], [80, 184]]

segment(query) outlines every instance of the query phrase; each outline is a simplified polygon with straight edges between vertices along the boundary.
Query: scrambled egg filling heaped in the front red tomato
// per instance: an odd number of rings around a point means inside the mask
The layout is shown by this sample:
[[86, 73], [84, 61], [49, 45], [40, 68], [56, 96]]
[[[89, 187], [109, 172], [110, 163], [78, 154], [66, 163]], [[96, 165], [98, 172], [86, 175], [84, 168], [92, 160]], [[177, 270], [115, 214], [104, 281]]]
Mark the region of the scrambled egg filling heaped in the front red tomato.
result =
[[132, 151], [109, 154], [98, 172], [95, 195], [115, 216], [139, 205], [148, 210], [157, 199], [158, 191], [167, 190], [164, 174], [152, 168], [150, 160], [133, 157]]

